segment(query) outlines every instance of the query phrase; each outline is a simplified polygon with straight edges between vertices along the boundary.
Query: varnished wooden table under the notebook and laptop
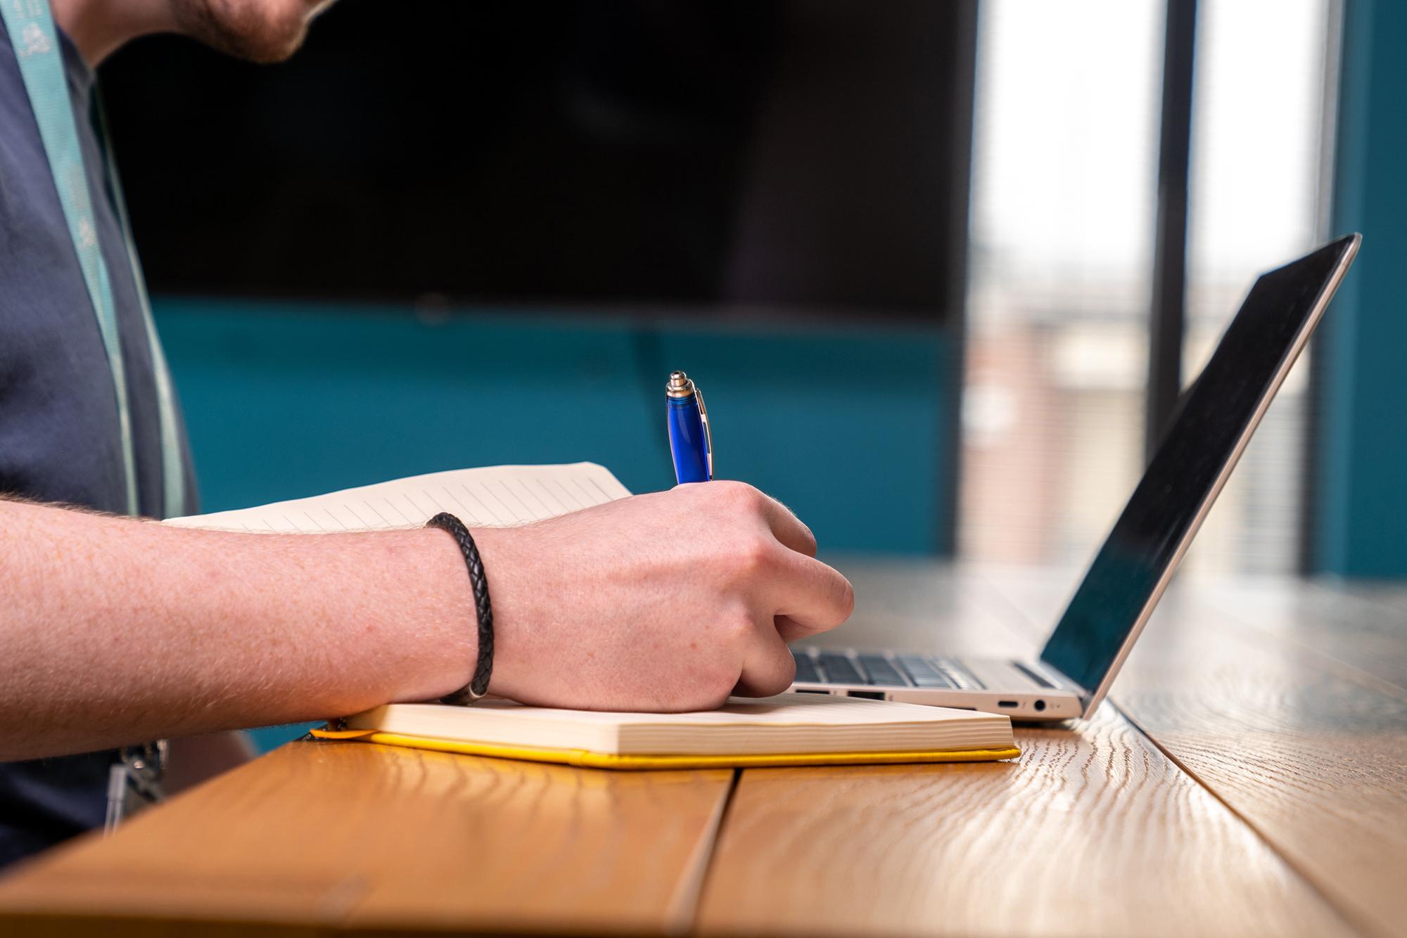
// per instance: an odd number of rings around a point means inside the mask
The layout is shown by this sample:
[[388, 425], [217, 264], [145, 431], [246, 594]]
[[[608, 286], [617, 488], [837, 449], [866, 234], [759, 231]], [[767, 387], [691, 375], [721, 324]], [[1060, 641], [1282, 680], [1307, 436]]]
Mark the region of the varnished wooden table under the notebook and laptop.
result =
[[[827, 644], [1020, 651], [1069, 578], [843, 564]], [[1183, 584], [1017, 762], [612, 773], [294, 743], [0, 880], [0, 934], [1407, 935], [1407, 588]]]

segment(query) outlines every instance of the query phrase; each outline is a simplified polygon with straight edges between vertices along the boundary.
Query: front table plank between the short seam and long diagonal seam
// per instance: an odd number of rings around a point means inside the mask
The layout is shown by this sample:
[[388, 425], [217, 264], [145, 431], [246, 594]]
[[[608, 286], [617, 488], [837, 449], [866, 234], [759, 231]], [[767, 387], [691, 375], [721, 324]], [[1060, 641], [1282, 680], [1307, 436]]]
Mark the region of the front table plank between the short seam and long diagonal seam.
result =
[[1352, 934], [1114, 710], [1017, 737], [1014, 765], [744, 772], [699, 931]]

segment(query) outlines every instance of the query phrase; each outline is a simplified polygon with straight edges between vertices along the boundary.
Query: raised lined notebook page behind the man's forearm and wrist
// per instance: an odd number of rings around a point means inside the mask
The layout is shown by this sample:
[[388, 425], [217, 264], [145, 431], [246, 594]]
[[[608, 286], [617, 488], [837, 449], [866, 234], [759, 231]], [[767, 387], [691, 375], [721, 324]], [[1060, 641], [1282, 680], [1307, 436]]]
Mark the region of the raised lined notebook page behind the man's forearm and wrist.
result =
[[418, 527], [449, 512], [473, 527], [511, 527], [630, 492], [602, 465], [494, 465], [411, 475], [340, 492], [172, 518], [166, 525], [236, 532], [331, 533]]

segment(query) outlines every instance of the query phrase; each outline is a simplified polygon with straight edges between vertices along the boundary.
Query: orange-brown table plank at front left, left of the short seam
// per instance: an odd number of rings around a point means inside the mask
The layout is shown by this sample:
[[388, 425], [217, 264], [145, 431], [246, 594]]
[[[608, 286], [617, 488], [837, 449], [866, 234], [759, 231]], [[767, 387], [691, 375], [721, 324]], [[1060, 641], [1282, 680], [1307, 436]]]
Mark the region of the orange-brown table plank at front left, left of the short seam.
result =
[[0, 880], [0, 932], [86, 915], [678, 932], [730, 785], [294, 743]]

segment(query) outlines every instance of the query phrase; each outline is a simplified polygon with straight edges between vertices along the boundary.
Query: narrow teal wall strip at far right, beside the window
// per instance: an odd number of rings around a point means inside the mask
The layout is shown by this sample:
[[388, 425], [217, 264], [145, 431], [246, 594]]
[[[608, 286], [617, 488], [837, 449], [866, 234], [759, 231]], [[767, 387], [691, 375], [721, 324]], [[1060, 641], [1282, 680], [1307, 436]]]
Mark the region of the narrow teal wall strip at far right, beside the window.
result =
[[1324, 318], [1311, 567], [1407, 577], [1407, 3], [1348, 0], [1334, 233], [1363, 246]]

